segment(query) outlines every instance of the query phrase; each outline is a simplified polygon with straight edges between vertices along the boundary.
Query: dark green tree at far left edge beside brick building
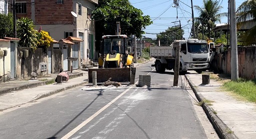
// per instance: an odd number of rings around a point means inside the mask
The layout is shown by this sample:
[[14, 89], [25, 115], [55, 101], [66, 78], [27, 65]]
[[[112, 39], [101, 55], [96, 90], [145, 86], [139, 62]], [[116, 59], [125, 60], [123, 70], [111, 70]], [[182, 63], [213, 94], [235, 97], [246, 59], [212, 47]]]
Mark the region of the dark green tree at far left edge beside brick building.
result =
[[7, 15], [0, 13], [0, 38], [13, 37], [12, 13]]

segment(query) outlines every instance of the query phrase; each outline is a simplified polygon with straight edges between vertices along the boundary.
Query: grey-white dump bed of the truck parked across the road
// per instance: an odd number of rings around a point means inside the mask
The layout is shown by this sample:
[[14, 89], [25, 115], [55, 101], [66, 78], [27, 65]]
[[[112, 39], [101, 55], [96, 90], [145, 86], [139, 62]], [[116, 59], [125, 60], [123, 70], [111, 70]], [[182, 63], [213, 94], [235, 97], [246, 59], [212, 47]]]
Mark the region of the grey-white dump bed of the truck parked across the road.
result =
[[172, 46], [154, 46], [150, 47], [150, 57], [154, 58], [174, 58], [175, 50]]

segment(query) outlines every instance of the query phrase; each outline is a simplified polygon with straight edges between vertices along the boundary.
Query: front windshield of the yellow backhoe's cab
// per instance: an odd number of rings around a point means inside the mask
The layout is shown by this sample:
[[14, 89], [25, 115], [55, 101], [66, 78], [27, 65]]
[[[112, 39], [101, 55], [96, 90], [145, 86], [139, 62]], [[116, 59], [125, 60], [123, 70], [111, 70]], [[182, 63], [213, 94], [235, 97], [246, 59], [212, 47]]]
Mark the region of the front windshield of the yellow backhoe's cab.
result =
[[104, 39], [104, 54], [109, 53], [111, 50], [115, 50], [117, 53], [124, 52], [123, 38], [107, 38]]

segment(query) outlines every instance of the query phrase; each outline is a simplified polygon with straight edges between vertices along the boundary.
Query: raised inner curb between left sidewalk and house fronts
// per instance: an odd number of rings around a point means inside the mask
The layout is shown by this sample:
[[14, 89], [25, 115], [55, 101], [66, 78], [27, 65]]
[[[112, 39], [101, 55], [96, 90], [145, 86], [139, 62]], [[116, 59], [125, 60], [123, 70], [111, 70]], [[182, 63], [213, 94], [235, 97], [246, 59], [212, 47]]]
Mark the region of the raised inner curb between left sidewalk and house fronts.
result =
[[[83, 75], [83, 73], [72, 74], [72, 75], [69, 75], [69, 79], [75, 78], [75, 77], [78, 77], [78, 76], [82, 76], [82, 75]], [[34, 87], [37, 87], [37, 86], [46, 85], [46, 84], [50, 83], [53, 79], [55, 79], [55, 78], [40, 81], [40, 82], [36, 82], [36, 83], [24, 84], [24, 85], [16, 86], [16, 87], [13, 87], [13, 88], [7, 88], [7, 89], [4, 89], [4, 90], [1, 90], [0, 95], [2, 95], [4, 93], [11, 92], [11, 91], [18, 91], [18, 90], [23, 90], [23, 89], [34, 88]]]

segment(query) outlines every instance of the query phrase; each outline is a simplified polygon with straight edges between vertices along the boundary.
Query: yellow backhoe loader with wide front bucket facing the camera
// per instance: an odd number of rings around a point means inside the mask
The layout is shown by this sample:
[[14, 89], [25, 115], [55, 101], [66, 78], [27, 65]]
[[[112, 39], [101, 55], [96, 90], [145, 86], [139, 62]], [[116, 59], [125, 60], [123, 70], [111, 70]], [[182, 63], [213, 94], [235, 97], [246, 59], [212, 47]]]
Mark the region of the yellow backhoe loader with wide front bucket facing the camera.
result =
[[120, 24], [117, 24], [115, 35], [103, 35], [98, 57], [98, 69], [88, 69], [88, 82], [92, 82], [92, 71], [96, 71], [97, 82], [111, 81], [129, 82], [130, 67], [133, 56], [128, 54], [128, 37], [120, 34]]

